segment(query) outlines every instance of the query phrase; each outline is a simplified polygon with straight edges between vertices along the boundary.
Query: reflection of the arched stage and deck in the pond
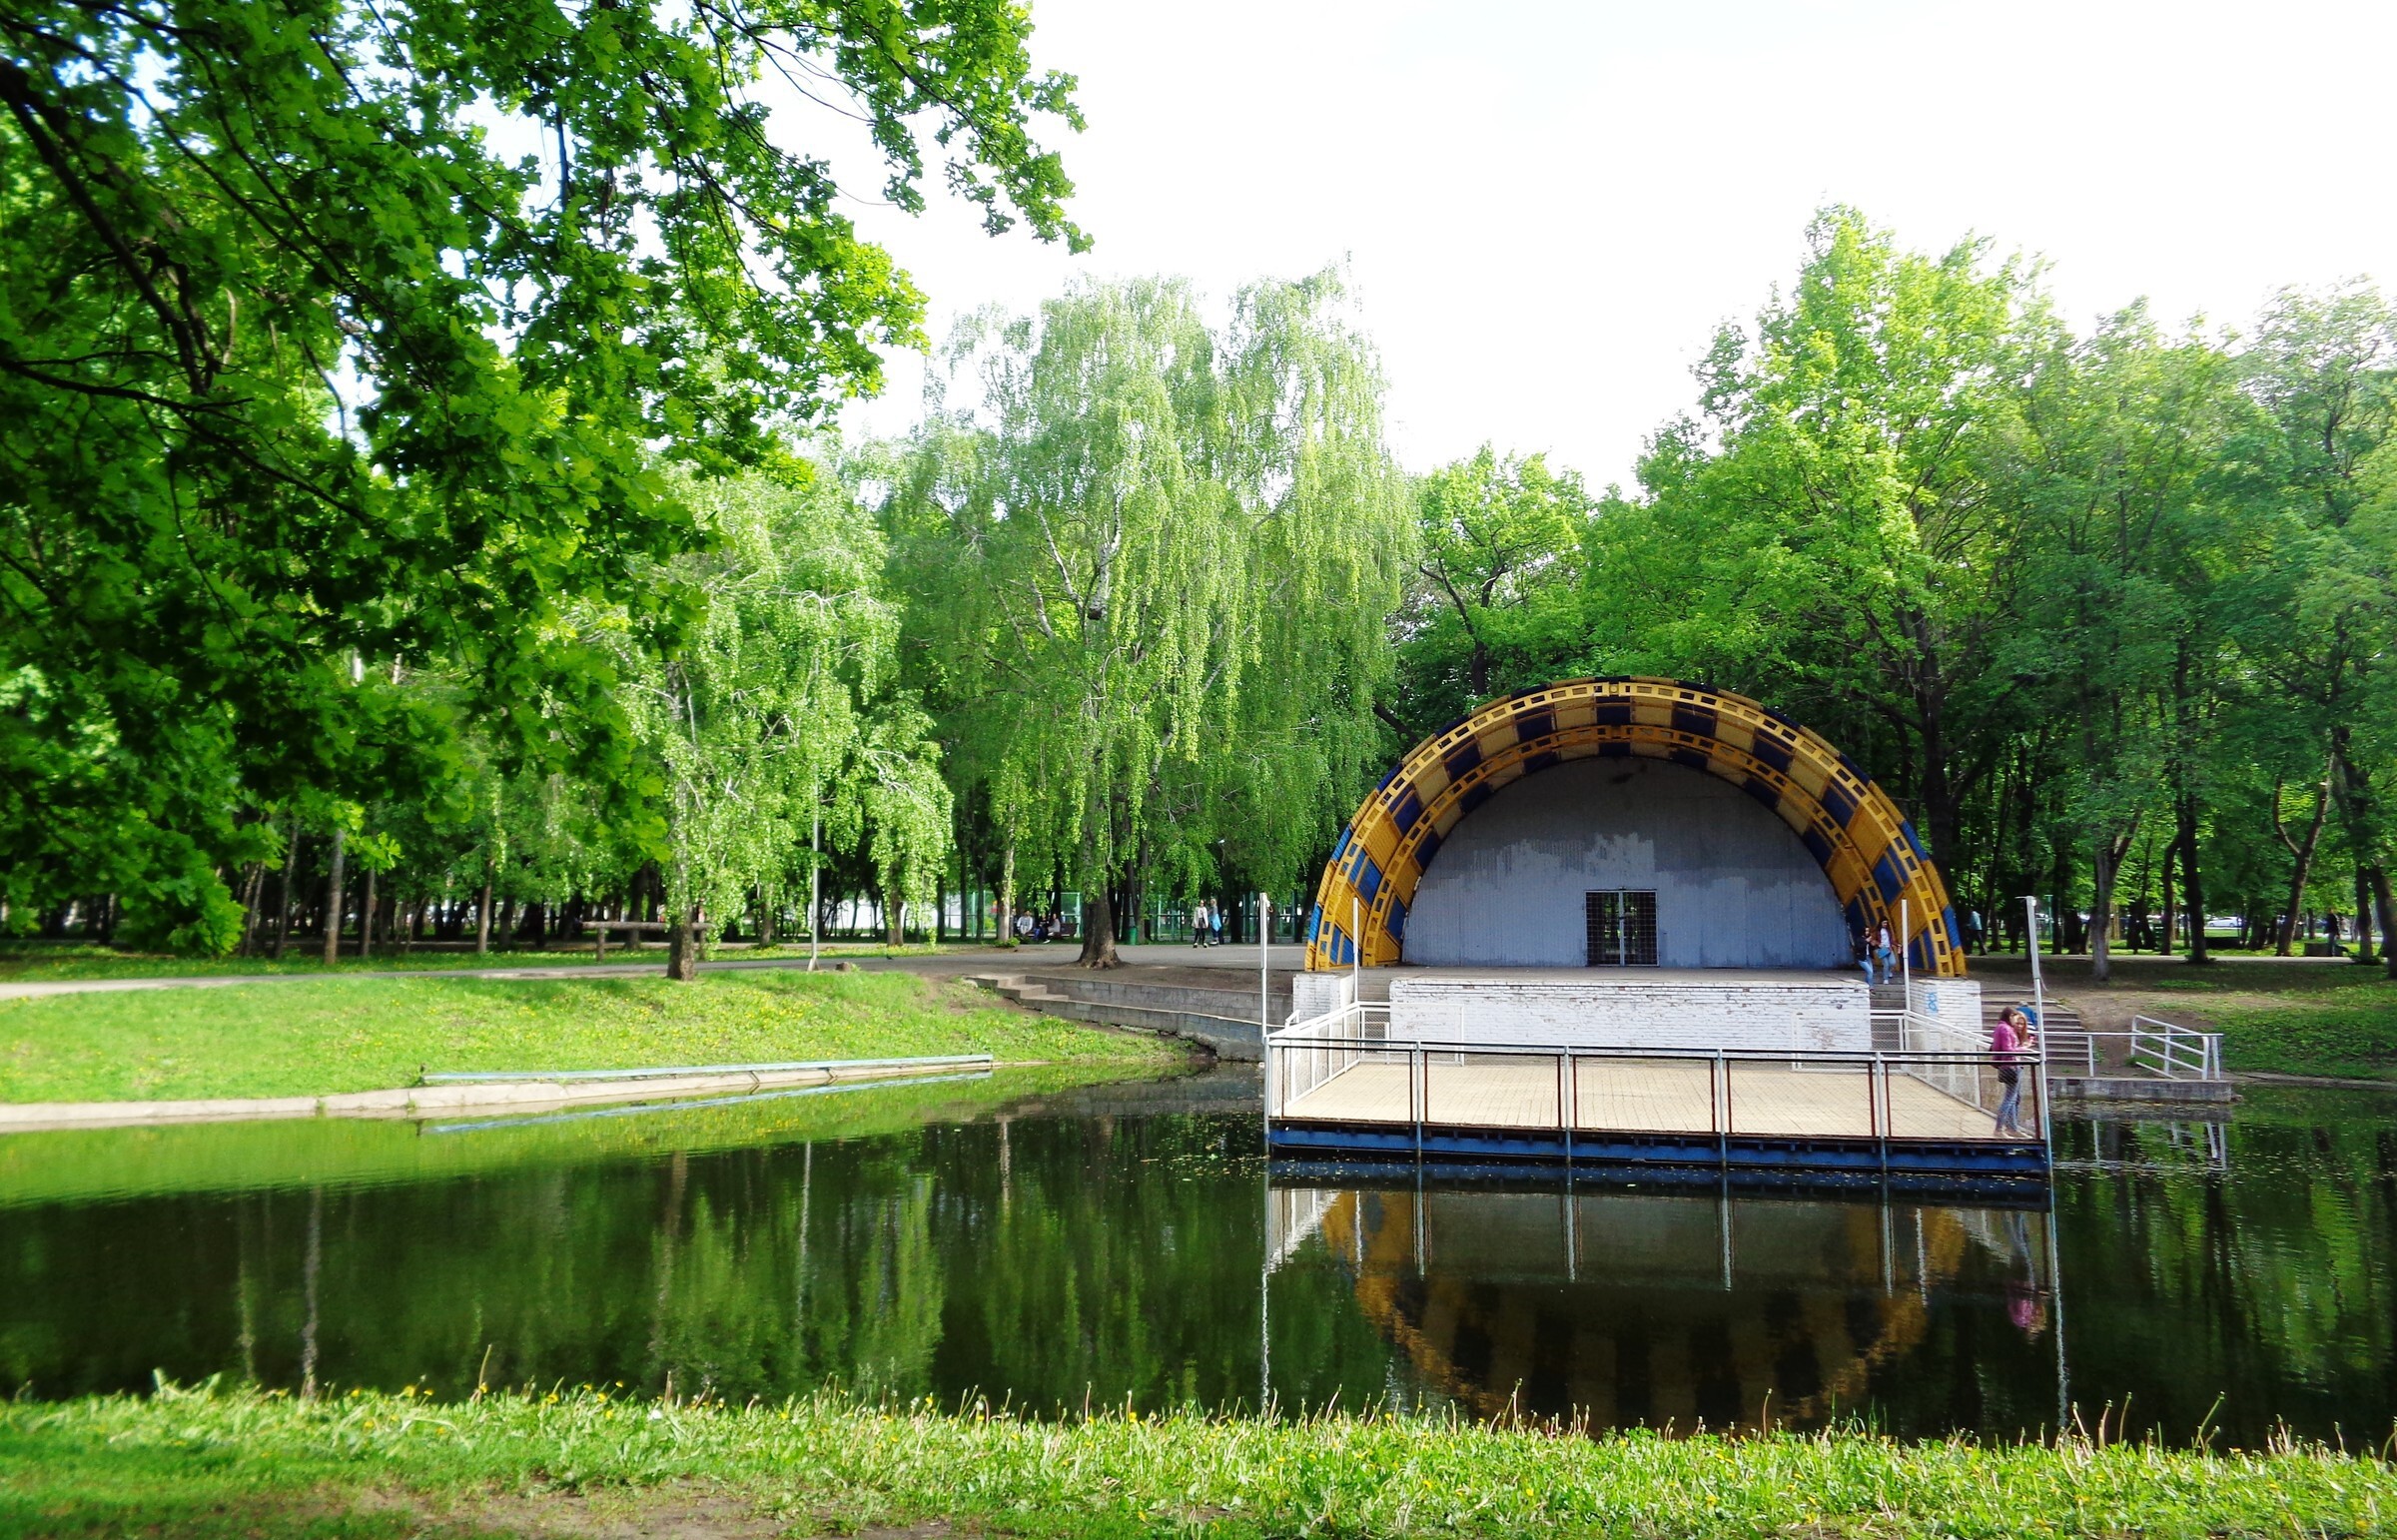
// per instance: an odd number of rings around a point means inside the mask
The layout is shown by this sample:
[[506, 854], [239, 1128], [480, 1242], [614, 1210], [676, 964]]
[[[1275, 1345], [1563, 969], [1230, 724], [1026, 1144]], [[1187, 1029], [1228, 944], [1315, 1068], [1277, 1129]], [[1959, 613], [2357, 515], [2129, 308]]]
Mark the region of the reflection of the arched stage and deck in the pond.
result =
[[1424, 1398], [1481, 1418], [1822, 1425], [1862, 1410], [1934, 1303], [1997, 1307], [2064, 1389], [2040, 1211], [1275, 1185], [1266, 1228], [1268, 1274], [1345, 1271]]

